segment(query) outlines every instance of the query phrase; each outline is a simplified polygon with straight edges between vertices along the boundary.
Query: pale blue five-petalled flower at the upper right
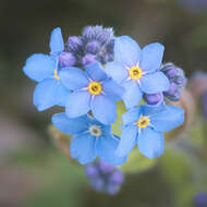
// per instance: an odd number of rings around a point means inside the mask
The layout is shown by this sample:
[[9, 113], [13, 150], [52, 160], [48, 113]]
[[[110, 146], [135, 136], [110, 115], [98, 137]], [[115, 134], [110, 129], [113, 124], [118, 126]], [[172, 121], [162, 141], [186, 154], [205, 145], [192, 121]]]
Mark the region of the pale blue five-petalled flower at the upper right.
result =
[[115, 38], [114, 61], [106, 65], [106, 73], [124, 88], [123, 101], [126, 108], [139, 104], [145, 94], [166, 92], [170, 83], [160, 68], [163, 46], [150, 44], [142, 50], [129, 36]]

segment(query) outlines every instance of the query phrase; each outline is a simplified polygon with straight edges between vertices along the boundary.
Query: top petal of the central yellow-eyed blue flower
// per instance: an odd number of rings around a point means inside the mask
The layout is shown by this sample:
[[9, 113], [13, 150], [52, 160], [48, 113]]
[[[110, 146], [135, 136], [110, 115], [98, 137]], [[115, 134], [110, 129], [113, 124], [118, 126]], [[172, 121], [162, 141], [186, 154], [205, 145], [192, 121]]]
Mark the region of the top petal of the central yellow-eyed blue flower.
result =
[[100, 82], [108, 78], [107, 74], [104, 72], [99, 62], [93, 62], [85, 66], [86, 73], [92, 78], [92, 81]]

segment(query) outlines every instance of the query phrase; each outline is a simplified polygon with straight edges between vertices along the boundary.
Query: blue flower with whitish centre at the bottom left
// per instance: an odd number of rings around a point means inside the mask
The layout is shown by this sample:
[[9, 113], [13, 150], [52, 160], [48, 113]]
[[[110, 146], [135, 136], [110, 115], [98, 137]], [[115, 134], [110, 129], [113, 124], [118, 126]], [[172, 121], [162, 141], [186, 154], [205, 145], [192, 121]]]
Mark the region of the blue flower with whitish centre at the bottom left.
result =
[[88, 115], [70, 119], [65, 113], [53, 114], [52, 123], [61, 132], [73, 135], [71, 156], [80, 163], [92, 162], [97, 156], [114, 166], [126, 160], [125, 156], [114, 154], [120, 138], [111, 134], [110, 125], [104, 125]]

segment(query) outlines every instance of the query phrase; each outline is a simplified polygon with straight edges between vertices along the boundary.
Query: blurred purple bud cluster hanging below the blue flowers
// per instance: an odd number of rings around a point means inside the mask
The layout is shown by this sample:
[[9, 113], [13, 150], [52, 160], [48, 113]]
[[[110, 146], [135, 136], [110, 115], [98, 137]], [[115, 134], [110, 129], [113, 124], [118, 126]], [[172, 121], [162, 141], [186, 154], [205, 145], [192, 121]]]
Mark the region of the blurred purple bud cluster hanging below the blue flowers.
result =
[[87, 165], [85, 174], [90, 180], [95, 191], [105, 192], [109, 195], [117, 194], [124, 181], [121, 170], [102, 160]]

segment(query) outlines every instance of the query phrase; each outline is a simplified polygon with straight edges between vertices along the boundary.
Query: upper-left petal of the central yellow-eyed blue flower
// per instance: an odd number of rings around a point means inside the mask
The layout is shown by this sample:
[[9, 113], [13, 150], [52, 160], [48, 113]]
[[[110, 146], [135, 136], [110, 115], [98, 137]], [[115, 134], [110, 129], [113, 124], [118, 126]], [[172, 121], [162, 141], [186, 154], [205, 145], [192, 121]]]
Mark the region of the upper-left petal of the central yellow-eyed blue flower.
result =
[[62, 69], [59, 72], [61, 83], [69, 89], [81, 89], [87, 87], [89, 81], [86, 74], [76, 68]]

